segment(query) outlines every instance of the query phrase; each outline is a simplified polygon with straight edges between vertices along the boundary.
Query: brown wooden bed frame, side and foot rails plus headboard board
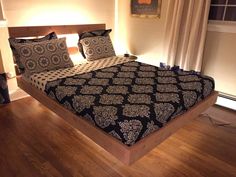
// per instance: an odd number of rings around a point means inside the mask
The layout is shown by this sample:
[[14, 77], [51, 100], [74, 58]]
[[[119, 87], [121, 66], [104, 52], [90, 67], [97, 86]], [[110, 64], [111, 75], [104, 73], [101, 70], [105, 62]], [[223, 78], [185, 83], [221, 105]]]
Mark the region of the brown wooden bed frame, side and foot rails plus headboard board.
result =
[[[87, 30], [105, 29], [105, 24], [95, 25], [70, 25], [70, 26], [40, 26], [40, 27], [10, 27], [11, 37], [42, 36], [55, 31], [57, 34], [81, 33]], [[96, 144], [103, 147], [117, 159], [127, 165], [144, 156], [179, 128], [191, 122], [203, 111], [212, 106], [217, 99], [218, 92], [214, 91], [206, 99], [196, 104], [183, 115], [176, 117], [160, 130], [151, 133], [132, 146], [126, 146], [111, 135], [91, 125], [86, 120], [65, 109], [62, 105], [50, 99], [45, 93], [32, 86], [21, 76], [17, 77], [18, 86], [40, 103], [61, 116], [66, 122], [77, 128], [84, 135], [92, 139]]]

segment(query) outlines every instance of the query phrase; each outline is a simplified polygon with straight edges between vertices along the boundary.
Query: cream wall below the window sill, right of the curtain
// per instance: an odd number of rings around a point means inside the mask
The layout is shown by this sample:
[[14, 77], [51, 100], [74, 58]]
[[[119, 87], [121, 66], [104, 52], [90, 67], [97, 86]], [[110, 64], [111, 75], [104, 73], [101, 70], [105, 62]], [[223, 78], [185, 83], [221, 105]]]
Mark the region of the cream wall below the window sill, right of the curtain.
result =
[[203, 73], [215, 79], [216, 90], [236, 97], [236, 33], [208, 31]]

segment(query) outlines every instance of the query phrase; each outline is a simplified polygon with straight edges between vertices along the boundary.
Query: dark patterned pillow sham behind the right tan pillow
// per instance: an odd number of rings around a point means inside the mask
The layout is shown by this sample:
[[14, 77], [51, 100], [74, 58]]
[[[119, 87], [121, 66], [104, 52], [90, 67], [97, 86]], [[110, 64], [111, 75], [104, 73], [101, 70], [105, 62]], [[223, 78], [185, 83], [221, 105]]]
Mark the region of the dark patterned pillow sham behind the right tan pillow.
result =
[[78, 47], [82, 56], [86, 58], [86, 55], [83, 50], [83, 46], [80, 42], [82, 39], [87, 38], [87, 37], [95, 37], [95, 36], [109, 36], [111, 31], [112, 31], [111, 29], [107, 29], [107, 30], [100, 29], [100, 30], [94, 30], [94, 31], [87, 31], [87, 32], [79, 34]]

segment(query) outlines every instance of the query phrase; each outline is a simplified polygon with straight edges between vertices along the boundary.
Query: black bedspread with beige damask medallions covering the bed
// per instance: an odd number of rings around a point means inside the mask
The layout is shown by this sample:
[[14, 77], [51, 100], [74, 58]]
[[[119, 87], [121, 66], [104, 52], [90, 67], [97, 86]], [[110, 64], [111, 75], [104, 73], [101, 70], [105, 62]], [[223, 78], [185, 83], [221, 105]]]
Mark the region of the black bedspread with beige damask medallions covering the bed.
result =
[[131, 146], [214, 90], [212, 78], [131, 61], [59, 78], [45, 92]]

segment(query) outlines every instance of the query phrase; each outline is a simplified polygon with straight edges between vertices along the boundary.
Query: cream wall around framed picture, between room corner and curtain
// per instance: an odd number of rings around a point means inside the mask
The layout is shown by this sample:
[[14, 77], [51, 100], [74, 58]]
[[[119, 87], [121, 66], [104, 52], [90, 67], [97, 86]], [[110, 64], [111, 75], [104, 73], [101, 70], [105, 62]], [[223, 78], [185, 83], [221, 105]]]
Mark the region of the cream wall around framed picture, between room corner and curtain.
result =
[[[169, 0], [162, 0], [160, 18], [132, 17], [130, 1], [119, 0], [118, 33], [120, 50], [139, 56], [143, 61], [159, 65], [163, 61], [163, 45], [167, 6]], [[123, 46], [123, 48], [122, 48]]]

